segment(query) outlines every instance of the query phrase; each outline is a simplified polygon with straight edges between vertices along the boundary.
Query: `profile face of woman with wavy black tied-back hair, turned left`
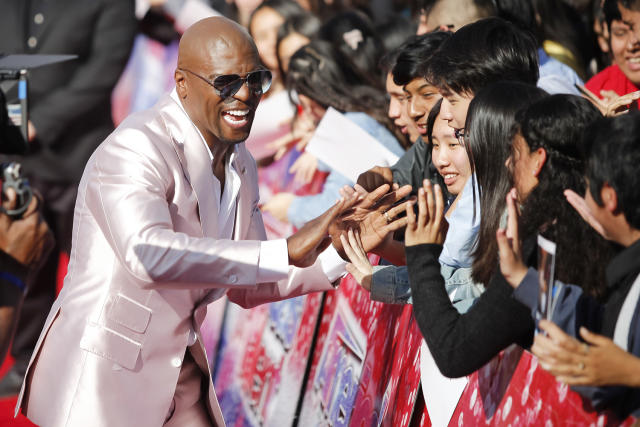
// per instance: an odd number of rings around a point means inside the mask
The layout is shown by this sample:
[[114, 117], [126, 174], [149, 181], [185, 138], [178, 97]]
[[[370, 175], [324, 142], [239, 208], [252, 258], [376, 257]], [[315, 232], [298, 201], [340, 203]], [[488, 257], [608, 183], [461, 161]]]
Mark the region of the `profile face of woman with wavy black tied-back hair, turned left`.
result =
[[531, 191], [538, 185], [540, 172], [540, 150], [532, 152], [525, 139], [517, 133], [513, 138], [511, 155], [506, 166], [513, 176], [513, 184], [518, 192], [518, 201], [523, 203]]

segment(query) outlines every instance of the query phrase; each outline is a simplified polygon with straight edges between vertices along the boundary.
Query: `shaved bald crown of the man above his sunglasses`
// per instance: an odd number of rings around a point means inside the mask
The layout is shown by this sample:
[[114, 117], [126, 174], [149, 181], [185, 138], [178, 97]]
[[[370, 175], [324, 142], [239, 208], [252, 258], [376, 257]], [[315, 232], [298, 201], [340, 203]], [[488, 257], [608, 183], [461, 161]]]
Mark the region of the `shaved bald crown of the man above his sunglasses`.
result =
[[253, 50], [253, 39], [242, 26], [222, 16], [202, 19], [187, 30], [180, 39], [178, 68], [198, 68], [215, 57], [233, 56], [239, 51]]

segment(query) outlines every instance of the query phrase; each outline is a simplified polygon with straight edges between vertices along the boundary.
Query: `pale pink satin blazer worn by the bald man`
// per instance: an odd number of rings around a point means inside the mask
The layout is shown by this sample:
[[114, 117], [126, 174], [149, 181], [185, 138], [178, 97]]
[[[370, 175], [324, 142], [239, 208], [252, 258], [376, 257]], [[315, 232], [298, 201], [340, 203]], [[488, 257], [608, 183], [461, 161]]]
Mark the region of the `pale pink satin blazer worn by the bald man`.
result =
[[[232, 240], [219, 239], [206, 147], [166, 95], [95, 151], [76, 201], [64, 287], [32, 356], [22, 406], [47, 426], [161, 426], [186, 348], [211, 378], [199, 329], [225, 294], [243, 307], [332, 289], [321, 261], [256, 285], [256, 164], [244, 144]], [[199, 345], [198, 345], [199, 344]], [[224, 425], [209, 380], [211, 416]]]

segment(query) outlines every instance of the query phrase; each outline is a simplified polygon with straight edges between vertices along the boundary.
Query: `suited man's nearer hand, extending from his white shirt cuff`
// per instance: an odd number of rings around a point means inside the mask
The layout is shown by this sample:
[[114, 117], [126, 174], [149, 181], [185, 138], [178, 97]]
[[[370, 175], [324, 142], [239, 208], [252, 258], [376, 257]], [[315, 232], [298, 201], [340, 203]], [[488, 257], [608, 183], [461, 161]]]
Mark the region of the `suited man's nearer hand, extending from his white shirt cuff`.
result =
[[307, 222], [295, 234], [289, 236], [287, 238], [289, 264], [296, 267], [313, 265], [318, 255], [331, 243], [331, 238], [327, 234], [329, 225], [358, 200], [357, 194], [338, 200], [325, 213]]

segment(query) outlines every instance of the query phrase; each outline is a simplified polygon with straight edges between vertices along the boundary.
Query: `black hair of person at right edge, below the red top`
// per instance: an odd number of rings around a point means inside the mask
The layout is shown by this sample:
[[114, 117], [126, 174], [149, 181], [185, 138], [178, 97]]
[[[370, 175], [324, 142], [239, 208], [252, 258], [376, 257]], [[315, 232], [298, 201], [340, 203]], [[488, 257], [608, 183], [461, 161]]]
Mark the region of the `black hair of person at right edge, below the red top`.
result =
[[618, 209], [631, 227], [640, 230], [640, 112], [595, 122], [586, 132], [584, 147], [593, 200], [602, 206], [600, 190], [609, 184], [618, 197]]

